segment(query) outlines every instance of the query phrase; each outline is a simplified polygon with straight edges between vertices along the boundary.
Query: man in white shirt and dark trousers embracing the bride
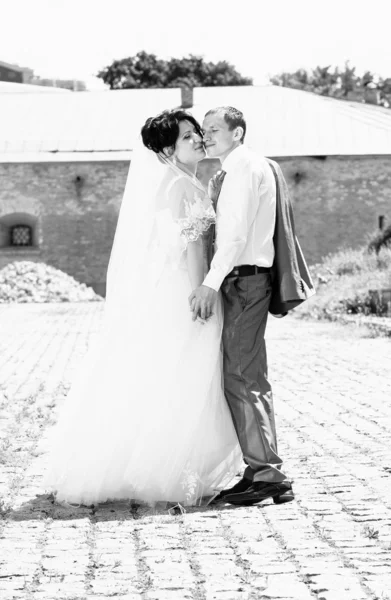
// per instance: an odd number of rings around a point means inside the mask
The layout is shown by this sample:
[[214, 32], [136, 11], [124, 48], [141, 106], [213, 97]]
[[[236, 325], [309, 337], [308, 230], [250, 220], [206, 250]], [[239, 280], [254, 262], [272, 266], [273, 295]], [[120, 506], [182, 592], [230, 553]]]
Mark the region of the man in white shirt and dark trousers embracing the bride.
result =
[[[224, 391], [247, 465], [243, 478], [214, 500], [248, 506], [294, 499], [277, 451], [267, 377], [265, 329], [275, 248], [276, 182], [268, 161], [244, 145], [246, 122], [233, 107], [210, 110], [203, 122], [210, 158], [219, 158], [216, 251], [201, 286], [189, 297], [193, 319], [208, 319], [217, 292], [224, 302]], [[220, 192], [220, 195], [219, 195]]]

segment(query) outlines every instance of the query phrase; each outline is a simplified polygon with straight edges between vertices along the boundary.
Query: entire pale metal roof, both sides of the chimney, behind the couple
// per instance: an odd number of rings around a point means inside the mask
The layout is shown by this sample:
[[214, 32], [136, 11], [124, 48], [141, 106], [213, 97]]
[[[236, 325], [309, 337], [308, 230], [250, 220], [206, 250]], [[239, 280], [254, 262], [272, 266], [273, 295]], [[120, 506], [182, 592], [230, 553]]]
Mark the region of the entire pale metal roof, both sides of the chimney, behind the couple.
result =
[[[1, 162], [130, 158], [145, 119], [181, 102], [180, 89], [64, 92], [0, 90]], [[266, 156], [391, 154], [391, 110], [272, 85], [194, 89], [199, 120], [220, 105], [243, 110]]]

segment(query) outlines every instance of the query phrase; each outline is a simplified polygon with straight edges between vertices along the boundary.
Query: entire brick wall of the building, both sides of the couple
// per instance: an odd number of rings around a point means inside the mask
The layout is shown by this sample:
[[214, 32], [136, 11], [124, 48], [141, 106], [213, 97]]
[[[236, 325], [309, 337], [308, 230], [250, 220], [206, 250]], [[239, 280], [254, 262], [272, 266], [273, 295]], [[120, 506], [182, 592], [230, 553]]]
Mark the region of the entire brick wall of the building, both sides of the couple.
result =
[[[391, 220], [390, 157], [276, 160], [309, 263], [365, 243], [379, 215]], [[201, 179], [206, 183], [218, 166], [203, 161]], [[102, 291], [127, 171], [126, 161], [0, 164], [0, 224], [7, 214], [30, 214], [39, 243], [32, 250], [0, 248], [0, 268], [18, 259], [43, 261]]]

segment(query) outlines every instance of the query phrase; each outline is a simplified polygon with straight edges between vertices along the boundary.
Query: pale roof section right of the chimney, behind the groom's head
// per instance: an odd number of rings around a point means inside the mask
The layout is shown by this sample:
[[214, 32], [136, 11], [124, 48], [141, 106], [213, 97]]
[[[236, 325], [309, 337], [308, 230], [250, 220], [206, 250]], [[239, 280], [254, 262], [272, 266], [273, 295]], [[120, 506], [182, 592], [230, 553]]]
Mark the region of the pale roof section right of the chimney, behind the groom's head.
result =
[[194, 114], [243, 111], [246, 143], [266, 156], [391, 154], [391, 110], [280, 86], [200, 88]]

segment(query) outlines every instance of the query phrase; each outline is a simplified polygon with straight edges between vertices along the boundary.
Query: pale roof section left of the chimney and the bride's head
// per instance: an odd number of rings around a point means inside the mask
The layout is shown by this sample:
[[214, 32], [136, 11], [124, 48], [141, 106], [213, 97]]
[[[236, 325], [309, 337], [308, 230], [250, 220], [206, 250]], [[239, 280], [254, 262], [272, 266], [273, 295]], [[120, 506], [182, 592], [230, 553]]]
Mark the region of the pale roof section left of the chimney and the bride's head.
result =
[[179, 103], [178, 89], [0, 94], [0, 160], [131, 151], [145, 119]]

